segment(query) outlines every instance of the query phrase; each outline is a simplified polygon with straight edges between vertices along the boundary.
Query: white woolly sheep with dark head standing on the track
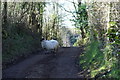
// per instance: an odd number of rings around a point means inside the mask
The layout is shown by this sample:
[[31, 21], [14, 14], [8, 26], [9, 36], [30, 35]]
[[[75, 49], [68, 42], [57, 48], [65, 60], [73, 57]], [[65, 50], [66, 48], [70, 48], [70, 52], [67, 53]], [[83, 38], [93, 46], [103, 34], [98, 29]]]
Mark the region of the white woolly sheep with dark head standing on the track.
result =
[[59, 43], [57, 40], [42, 40], [41, 46], [43, 49], [46, 49], [47, 51], [53, 51], [57, 52]]

